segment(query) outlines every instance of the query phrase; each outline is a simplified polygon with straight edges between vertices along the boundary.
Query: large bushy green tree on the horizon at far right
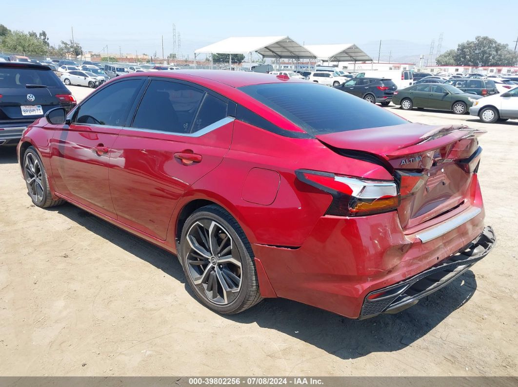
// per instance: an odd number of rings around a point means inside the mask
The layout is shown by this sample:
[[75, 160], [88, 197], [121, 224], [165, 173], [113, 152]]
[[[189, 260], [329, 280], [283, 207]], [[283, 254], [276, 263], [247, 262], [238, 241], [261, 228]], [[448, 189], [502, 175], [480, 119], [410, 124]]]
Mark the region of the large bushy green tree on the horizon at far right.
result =
[[[443, 55], [447, 54], [443, 57]], [[511, 51], [507, 44], [498, 43], [487, 36], [477, 36], [475, 40], [460, 43], [455, 53], [445, 52], [437, 57], [437, 64], [453, 57], [455, 66], [515, 66], [518, 53]]]

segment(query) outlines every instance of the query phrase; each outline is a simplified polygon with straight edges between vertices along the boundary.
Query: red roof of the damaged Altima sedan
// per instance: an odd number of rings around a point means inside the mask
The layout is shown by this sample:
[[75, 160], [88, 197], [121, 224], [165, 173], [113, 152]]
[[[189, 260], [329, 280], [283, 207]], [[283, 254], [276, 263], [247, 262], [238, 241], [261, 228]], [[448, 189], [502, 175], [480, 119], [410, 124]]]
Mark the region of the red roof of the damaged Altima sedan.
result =
[[[124, 78], [131, 76], [162, 76], [164, 78], [172, 78], [184, 81], [208, 81], [209, 83], [225, 84], [231, 87], [241, 87], [258, 85], [264, 83], [296, 83], [306, 82], [304, 80], [291, 78], [290, 80], [281, 80], [270, 74], [249, 72], [249, 71], [229, 71], [229, 70], [181, 70], [181, 71], [146, 71], [138, 74], [132, 73], [124, 75]], [[120, 78], [120, 77], [118, 77]]]

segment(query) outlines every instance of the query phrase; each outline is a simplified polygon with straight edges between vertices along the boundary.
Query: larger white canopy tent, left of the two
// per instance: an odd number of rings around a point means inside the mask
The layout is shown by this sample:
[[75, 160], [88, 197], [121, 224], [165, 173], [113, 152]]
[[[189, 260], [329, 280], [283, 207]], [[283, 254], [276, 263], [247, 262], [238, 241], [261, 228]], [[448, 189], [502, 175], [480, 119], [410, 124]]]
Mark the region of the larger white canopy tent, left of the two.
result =
[[[251, 54], [255, 52], [263, 58], [316, 59], [316, 55], [289, 36], [231, 37], [220, 40], [194, 51], [197, 54]], [[211, 62], [212, 64], [212, 62]]]

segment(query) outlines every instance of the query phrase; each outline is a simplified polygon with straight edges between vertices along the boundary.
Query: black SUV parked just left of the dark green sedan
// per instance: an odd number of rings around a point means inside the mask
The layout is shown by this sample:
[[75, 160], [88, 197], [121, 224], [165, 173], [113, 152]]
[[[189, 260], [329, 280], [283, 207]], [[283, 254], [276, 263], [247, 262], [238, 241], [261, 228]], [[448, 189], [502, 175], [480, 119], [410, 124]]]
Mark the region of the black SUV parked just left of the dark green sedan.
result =
[[372, 103], [386, 106], [392, 101], [397, 86], [392, 80], [384, 78], [353, 78], [335, 89], [342, 90]]

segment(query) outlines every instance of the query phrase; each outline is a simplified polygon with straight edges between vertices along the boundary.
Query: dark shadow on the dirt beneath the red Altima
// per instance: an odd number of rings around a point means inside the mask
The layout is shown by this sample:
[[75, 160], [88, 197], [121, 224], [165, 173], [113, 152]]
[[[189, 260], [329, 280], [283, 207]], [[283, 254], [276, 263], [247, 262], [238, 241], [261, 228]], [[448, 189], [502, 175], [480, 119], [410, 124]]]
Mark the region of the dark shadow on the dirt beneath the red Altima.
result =
[[[184, 284], [193, 298], [192, 302], [199, 302], [186, 283], [176, 256], [73, 205], [65, 204], [50, 210], [67, 216], [176, 278]], [[341, 359], [354, 359], [372, 352], [392, 352], [411, 346], [466, 303], [476, 289], [476, 278], [468, 270], [448, 286], [394, 315], [352, 320], [316, 307], [276, 298], [265, 299], [238, 315], [224, 317], [242, 324], [256, 323], [262, 328], [274, 329], [303, 340]]]

